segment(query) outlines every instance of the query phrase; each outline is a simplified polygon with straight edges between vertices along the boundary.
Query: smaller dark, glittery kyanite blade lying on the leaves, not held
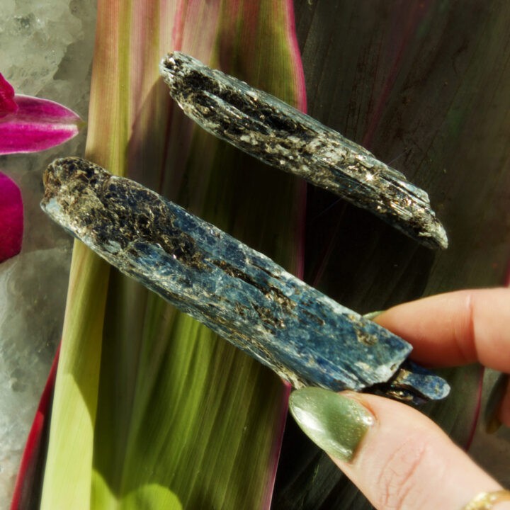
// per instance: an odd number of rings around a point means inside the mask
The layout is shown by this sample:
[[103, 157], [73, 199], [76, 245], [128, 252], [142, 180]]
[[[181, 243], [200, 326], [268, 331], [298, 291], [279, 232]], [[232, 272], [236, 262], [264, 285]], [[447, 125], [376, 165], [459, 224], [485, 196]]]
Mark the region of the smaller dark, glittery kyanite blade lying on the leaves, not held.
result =
[[374, 212], [426, 246], [448, 246], [426, 192], [360, 145], [181, 52], [167, 55], [159, 70], [184, 113], [212, 135]]

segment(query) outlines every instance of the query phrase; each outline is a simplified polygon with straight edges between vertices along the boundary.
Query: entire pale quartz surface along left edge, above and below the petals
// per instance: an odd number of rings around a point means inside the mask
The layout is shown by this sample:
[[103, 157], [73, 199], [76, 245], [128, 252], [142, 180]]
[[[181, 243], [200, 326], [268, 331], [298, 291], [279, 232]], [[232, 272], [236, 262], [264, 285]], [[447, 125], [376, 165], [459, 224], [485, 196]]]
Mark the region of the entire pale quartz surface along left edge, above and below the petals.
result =
[[[64, 103], [86, 118], [95, 2], [2, 0], [0, 73], [16, 93]], [[84, 133], [67, 142], [80, 153]], [[0, 264], [0, 509], [8, 508], [21, 453], [60, 341], [71, 246], [40, 211], [40, 169], [60, 153], [0, 157], [21, 188], [23, 249]]]

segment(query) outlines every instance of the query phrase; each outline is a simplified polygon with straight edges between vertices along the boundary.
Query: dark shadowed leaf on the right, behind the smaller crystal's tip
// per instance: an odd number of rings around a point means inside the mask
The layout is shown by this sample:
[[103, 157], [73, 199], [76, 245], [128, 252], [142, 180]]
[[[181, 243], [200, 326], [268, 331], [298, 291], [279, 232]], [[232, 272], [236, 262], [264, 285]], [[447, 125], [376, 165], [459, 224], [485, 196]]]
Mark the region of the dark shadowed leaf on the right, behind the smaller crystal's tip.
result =
[[[450, 238], [450, 248], [433, 255], [310, 188], [306, 280], [359, 312], [501, 284], [509, 252], [509, 6], [302, 0], [296, 11], [310, 113], [429, 192]], [[445, 373], [450, 397], [426, 409], [462, 446], [477, 419], [480, 374], [476, 365]], [[295, 462], [287, 460], [277, 481], [278, 510], [371, 508], [348, 482], [336, 483], [338, 470], [302, 436], [285, 436], [288, 458]]]

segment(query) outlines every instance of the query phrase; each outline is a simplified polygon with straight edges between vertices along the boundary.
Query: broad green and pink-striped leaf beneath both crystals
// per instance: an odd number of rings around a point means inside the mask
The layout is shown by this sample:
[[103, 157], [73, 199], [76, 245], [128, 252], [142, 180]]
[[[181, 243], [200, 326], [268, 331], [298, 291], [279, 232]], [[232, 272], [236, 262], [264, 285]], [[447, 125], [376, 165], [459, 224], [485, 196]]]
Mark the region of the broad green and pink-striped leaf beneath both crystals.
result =
[[[87, 157], [296, 268], [302, 184], [197, 129], [158, 75], [179, 49], [296, 103], [294, 36], [289, 1], [100, 0]], [[42, 508], [267, 507], [286, 401], [273, 373], [77, 243]]]

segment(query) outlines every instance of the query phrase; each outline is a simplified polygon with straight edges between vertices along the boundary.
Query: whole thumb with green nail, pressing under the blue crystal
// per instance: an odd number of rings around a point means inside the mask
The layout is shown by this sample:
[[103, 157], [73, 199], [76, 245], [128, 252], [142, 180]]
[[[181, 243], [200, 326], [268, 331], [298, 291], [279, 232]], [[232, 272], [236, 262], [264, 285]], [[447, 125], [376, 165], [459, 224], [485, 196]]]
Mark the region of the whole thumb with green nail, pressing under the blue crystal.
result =
[[289, 408], [378, 510], [460, 510], [502, 489], [433, 421], [399, 402], [306, 387], [290, 395]]

